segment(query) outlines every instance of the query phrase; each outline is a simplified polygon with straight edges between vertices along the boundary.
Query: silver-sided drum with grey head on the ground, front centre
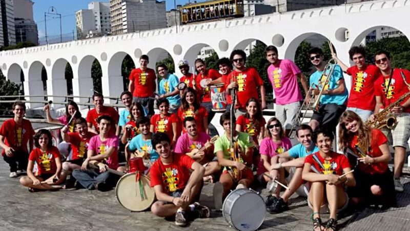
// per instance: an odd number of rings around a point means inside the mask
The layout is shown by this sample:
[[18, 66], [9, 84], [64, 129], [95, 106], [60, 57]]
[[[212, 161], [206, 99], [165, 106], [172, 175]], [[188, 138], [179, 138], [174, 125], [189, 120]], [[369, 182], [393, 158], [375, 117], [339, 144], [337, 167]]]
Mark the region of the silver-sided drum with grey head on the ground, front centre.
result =
[[255, 191], [233, 190], [222, 205], [222, 215], [230, 226], [240, 231], [252, 231], [265, 220], [266, 205]]

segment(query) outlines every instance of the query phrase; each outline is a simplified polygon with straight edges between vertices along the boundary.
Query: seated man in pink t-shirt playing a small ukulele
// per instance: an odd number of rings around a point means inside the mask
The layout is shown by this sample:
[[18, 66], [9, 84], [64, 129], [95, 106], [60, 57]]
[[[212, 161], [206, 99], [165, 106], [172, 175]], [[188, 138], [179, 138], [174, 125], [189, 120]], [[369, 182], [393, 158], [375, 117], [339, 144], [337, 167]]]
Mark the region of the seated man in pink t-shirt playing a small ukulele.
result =
[[[212, 174], [220, 169], [217, 161], [212, 161], [215, 157], [214, 147], [209, 142], [211, 138], [205, 132], [198, 132], [196, 122], [193, 117], [183, 120], [183, 127], [187, 133], [178, 138], [175, 145], [175, 153], [187, 154], [193, 160], [205, 167], [204, 180], [213, 180]], [[204, 148], [204, 150], [201, 150]], [[207, 178], [210, 176], [210, 178]]]

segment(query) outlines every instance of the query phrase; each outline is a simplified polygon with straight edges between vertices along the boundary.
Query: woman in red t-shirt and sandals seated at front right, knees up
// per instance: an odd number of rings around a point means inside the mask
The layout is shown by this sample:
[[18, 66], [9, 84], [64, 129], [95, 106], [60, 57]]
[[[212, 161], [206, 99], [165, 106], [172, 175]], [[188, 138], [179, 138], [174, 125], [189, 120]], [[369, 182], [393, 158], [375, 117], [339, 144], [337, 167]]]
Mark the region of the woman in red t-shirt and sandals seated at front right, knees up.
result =
[[[312, 184], [308, 205], [313, 209], [313, 230], [334, 231], [337, 225], [337, 213], [348, 204], [344, 185], [353, 187], [356, 181], [352, 173], [341, 176], [351, 169], [344, 155], [331, 150], [334, 139], [332, 131], [319, 128], [313, 133], [312, 138], [319, 151], [305, 158], [302, 179]], [[330, 210], [330, 219], [322, 224], [319, 211], [326, 204]]]

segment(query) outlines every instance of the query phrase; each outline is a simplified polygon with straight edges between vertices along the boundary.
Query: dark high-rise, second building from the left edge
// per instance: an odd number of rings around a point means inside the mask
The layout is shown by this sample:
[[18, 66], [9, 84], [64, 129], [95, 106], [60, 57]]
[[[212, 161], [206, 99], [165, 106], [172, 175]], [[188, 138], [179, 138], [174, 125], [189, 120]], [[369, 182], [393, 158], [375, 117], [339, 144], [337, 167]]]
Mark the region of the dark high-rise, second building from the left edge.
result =
[[29, 41], [38, 45], [38, 30], [33, 18], [33, 4], [31, 0], [13, 0], [16, 43]]

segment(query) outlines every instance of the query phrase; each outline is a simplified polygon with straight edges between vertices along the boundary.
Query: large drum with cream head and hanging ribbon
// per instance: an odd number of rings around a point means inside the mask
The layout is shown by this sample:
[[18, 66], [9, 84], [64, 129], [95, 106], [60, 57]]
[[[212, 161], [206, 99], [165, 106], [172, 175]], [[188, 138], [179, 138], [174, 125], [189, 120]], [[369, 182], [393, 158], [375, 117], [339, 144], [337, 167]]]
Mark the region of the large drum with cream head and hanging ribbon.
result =
[[144, 198], [141, 197], [139, 182], [136, 181], [136, 173], [126, 174], [119, 179], [115, 188], [118, 202], [128, 210], [144, 211], [151, 207], [155, 201], [154, 188], [150, 187], [150, 178], [140, 175]]

